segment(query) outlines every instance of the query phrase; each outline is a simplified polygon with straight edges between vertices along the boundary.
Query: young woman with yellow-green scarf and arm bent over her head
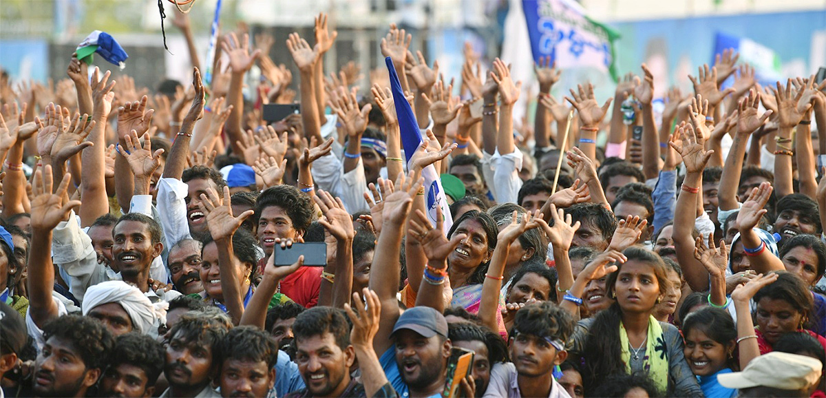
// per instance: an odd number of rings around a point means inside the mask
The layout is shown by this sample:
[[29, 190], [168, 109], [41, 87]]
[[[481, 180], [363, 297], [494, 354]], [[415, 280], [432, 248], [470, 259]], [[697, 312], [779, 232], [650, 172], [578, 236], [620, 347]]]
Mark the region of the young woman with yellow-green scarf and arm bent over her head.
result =
[[[609, 263], [617, 265], [608, 266]], [[607, 294], [615, 303], [591, 319], [581, 320], [568, 342], [572, 358], [582, 358], [586, 391], [594, 393], [612, 375], [642, 372], [669, 396], [700, 396], [683, 353], [680, 331], [658, 322], [654, 307], [666, 296], [667, 268], [657, 253], [634, 246], [623, 253], [602, 253], [580, 272], [564, 297], [563, 308], [582, 304], [587, 282], [608, 276]]]

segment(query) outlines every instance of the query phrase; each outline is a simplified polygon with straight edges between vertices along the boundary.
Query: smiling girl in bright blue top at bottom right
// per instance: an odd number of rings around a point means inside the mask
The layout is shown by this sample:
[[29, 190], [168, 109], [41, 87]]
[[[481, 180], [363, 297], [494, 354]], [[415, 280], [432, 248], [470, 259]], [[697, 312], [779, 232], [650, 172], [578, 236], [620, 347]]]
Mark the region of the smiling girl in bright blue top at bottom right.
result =
[[686, 316], [683, 353], [707, 398], [733, 398], [737, 390], [720, 386], [717, 375], [733, 372], [737, 329], [726, 310], [706, 307]]

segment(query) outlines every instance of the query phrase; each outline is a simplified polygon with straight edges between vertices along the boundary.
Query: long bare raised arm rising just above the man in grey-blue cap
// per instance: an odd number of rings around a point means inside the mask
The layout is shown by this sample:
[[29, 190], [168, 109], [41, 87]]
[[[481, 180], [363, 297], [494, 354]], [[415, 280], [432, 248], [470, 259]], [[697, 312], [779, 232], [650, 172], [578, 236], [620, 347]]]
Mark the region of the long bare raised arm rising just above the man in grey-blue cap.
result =
[[382, 234], [378, 235], [376, 251], [373, 255], [373, 268], [370, 270], [370, 290], [375, 291], [382, 303], [381, 318], [373, 348], [377, 353], [384, 353], [391, 347], [390, 334], [399, 318], [399, 306], [396, 293], [399, 286], [399, 252], [401, 251], [401, 234], [410, 212], [413, 197], [419, 191], [424, 180], [415, 173], [407, 178], [400, 174], [396, 179], [396, 191], [391, 181], [383, 181], [384, 192], [392, 192], [384, 197], [382, 211]]

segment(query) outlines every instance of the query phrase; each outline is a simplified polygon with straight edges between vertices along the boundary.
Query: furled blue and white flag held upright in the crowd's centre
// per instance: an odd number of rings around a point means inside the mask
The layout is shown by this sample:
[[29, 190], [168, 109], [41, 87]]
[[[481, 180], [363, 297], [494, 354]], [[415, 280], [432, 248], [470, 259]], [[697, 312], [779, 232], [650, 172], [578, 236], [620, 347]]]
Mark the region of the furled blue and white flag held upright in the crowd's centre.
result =
[[[422, 140], [419, 123], [415, 121], [415, 115], [411, 104], [407, 102], [405, 92], [401, 89], [399, 77], [396, 75], [396, 69], [393, 67], [393, 61], [390, 57], [385, 59], [387, 63], [387, 70], [390, 72], [390, 88], [393, 92], [393, 103], [396, 105], [396, 117], [399, 120], [399, 130], [401, 132], [401, 146], [405, 149], [405, 157], [407, 160], [407, 168], [411, 168], [411, 157], [416, 149], [421, 146]], [[425, 201], [427, 206], [427, 218], [430, 224], [436, 225], [436, 216], [438, 211], [442, 212], [444, 218], [443, 230], [447, 234], [450, 227], [453, 225], [453, 217], [450, 216], [450, 208], [448, 206], [448, 199], [444, 196], [444, 189], [442, 182], [439, 180], [439, 173], [436, 173], [436, 168], [433, 164], [421, 171], [421, 176], [425, 178], [425, 193], [427, 199]], [[395, 180], [397, 176], [387, 176]]]

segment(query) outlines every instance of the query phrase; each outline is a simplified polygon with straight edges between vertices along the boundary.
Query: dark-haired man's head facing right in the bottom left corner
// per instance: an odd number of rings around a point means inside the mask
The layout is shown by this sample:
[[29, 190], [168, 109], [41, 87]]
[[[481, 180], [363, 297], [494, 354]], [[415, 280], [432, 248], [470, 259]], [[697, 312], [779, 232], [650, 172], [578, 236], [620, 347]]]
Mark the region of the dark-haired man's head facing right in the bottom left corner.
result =
[[101, 377], [115, 339], [99, 322], [64, 315], [43, 327], [45, 344], [35, 362], [36, 397], [86, 396]]

